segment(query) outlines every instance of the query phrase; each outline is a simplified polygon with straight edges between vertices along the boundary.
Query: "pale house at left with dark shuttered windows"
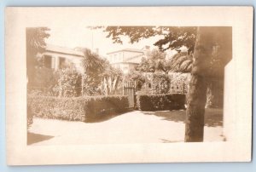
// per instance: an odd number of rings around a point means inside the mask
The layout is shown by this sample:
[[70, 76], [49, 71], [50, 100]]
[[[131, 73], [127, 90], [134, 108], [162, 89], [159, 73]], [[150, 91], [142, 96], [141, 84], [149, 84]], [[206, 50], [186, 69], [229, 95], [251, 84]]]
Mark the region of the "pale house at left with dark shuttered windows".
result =
[[68, 49], [61, 46], [47, 44], [43, 54], [44, 66], [51, 69], [61, 69], [73, 65], [79, 72], [83, 72], [81, 61], [84, 54], [75, 49]]

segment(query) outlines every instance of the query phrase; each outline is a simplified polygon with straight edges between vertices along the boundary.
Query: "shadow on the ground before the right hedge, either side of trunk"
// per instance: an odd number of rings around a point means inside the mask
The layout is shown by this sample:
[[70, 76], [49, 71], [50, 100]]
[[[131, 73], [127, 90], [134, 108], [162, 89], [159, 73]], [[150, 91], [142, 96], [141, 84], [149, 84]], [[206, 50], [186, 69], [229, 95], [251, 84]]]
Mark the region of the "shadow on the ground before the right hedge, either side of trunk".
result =
[[[185, 123], [186, 111], [157, 111], [157, 112], [143, 112], [145, 115], [154, 115], [163, 120], [173, 121], [177, 123]], [[205, 113], [205, 126], [217, 127], [223, 125], [223, 109], [207, 108]]]

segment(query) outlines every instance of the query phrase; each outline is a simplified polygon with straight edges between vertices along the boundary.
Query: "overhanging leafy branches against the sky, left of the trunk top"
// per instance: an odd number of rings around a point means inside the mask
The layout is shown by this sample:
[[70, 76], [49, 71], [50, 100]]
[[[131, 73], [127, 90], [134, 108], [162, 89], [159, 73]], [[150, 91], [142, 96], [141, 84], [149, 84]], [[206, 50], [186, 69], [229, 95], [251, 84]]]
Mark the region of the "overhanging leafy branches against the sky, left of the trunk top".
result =
[[195, 48], [196, 27], [191, 26], [107, 26], [104, 32], [113, 39], [113, 43], [123, 43], [121, 37], [129, 37], [131, 43], [137, 43], [143, 38], [163, 36], [155, 46], [160, 50], [179, 49], [183, 46], [189, 51]]

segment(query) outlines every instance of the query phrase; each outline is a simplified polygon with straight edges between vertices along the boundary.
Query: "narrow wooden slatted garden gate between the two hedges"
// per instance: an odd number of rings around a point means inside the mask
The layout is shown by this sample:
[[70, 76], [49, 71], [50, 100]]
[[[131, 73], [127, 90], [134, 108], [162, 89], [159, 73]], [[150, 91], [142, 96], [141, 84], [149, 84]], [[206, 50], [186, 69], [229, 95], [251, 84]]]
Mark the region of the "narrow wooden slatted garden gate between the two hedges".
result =
[[129, 108], [135, 108], [136, 106], [136, 83], [128, 82], [124, 83], [124, 95], [128, 95]]

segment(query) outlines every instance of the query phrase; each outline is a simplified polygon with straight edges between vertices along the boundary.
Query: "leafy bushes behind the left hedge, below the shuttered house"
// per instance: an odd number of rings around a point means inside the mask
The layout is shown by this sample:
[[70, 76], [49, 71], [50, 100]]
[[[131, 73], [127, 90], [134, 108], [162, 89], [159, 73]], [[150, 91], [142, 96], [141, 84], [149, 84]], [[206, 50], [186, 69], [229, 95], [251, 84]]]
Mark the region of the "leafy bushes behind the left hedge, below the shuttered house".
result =
[[81, 94], [81, 74], [73, 67], [57, 71], [37, 67], [35, 79], [28, 87], [28, 93], [62, 97], [79, 96]]

